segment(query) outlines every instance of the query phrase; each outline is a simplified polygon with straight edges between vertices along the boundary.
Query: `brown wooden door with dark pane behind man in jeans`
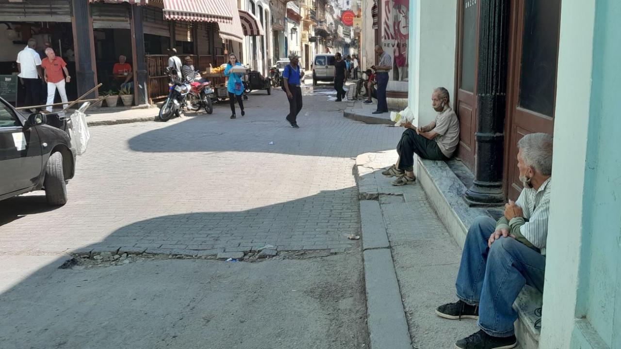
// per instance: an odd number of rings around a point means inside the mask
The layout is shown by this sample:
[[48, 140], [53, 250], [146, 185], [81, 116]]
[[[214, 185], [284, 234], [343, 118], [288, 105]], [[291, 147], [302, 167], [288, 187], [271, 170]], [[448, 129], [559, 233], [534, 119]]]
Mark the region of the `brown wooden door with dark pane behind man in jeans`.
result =
[[514, 0], [511, 11], [504, 178], [515, 200], [522, 191], [517, 142], [554, 129], [561, 0]]

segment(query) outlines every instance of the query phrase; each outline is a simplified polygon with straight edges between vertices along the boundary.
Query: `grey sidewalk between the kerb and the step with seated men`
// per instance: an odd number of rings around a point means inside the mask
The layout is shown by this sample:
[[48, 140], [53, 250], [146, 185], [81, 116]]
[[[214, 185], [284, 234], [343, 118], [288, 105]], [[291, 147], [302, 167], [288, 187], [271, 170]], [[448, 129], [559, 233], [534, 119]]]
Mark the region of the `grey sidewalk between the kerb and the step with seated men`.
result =
[[453, 348], [456, 340], [478, 330], [476, 320], [446, 320], [435, 315], [438, 305], [456, 300], [461, 249], [438, 219], [419, 183], [392, 186], [394, 178], [381, 174], [396, 160], [394, 150], [358, 156], [359, 195], [361, 199], [379, 201], [412, 347]]

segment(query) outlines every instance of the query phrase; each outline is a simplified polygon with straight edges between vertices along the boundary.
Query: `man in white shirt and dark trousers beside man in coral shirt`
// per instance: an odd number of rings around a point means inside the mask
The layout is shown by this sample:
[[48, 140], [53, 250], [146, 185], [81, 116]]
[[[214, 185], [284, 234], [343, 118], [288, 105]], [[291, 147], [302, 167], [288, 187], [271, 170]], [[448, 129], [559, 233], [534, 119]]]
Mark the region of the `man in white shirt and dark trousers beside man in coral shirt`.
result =
[[19, 76], [26, 88], [26, 97], [24, 104], [26, 106], [36, 106], [40, 102], [41, 80], [43, 75], [41, 72], [41, 57], [35, 51], [37, 40], [29, 39], [28, 46], [17, 53], [17, 70]]

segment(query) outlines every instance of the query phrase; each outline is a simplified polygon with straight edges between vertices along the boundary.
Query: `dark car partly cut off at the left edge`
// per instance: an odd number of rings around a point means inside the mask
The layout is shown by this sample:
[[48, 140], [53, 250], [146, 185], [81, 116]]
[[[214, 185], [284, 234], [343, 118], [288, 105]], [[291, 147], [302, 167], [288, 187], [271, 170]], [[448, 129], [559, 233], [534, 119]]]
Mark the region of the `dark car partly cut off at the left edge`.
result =
[[69, 135], [48, 125], [51, 114], [22, 115], [0, 98], [0, 200], [45, 189], [48, 204], [67, 202], [66, 182], [75, 173]]

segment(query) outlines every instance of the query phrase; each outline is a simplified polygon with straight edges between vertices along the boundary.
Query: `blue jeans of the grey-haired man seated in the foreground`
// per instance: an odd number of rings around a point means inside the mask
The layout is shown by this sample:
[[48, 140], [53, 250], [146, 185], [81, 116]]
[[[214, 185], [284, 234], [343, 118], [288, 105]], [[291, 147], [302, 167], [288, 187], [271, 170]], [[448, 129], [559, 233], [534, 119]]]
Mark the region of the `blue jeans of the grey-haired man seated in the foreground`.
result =
[[545, 256], [512, 237], [501, 237], [487, 247], [496, 230], [490, 217], [478, 217], [468, 230], [457, 274], [457, 297], [479, 306], [478, 325], [488, 335], [514, 334], [517, 312], [513, 303], [524, 284], [543, 292]]

